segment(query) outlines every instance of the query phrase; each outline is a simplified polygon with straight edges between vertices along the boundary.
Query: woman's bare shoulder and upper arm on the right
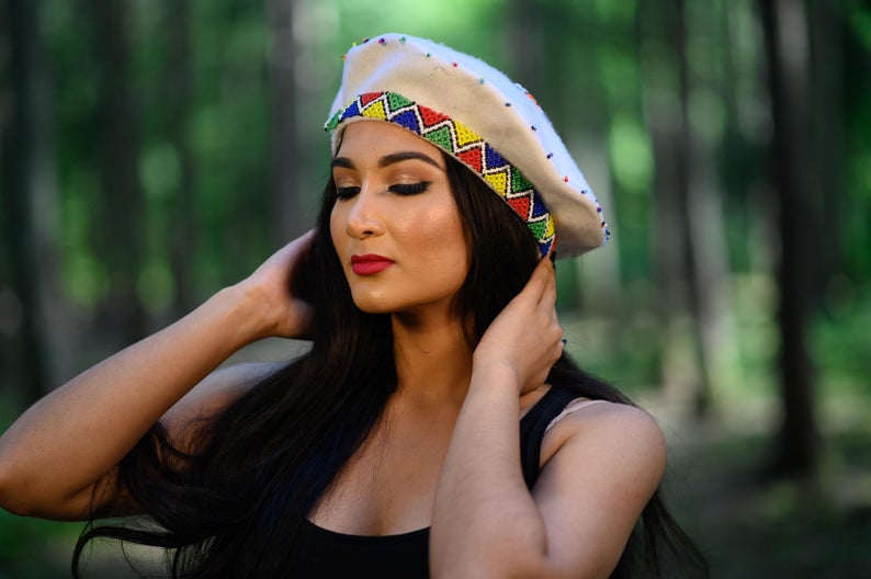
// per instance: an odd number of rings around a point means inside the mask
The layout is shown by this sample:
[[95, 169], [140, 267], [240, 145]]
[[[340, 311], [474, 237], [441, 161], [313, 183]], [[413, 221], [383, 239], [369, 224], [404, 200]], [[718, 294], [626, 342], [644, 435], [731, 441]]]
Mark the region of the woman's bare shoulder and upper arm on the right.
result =
[[533, 498], [566, 577], [607, 577], [663, 477], [663, 431], [638, 408], [596, 402], [562, 418], [542, 443]]

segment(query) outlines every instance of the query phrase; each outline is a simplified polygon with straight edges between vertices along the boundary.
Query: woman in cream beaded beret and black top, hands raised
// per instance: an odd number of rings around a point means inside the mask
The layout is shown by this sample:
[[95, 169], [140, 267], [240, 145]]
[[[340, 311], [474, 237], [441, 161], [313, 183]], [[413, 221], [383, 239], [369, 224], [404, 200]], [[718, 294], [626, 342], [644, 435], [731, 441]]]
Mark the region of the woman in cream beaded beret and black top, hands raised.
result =
[[[663, 540], [700, 560], [656, 493], [656, 423], [563, 352], [541, 258], [607, 227], [538, 104], [384, 35], [332, 112], [317, 228], [22, 416], [0, 503], [148, 515], [86, 531], [77, 576], [99, 536], [197, 578], [647, 577]], [[268, 336], [312, 350], [215, 370]]]

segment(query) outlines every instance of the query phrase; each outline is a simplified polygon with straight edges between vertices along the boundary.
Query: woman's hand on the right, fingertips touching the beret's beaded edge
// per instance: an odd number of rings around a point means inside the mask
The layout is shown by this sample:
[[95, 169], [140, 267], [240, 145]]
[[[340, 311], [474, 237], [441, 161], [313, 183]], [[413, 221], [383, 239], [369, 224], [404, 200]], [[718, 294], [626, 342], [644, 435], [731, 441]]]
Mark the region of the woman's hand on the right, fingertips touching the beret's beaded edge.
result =
[[491, 365], [509, 370], [517, 376], [519, 394], [544, 384], [564, 347], [555, 304], [556, 277], [545, 258], [484, 332], [474, 353], [476, 370]]

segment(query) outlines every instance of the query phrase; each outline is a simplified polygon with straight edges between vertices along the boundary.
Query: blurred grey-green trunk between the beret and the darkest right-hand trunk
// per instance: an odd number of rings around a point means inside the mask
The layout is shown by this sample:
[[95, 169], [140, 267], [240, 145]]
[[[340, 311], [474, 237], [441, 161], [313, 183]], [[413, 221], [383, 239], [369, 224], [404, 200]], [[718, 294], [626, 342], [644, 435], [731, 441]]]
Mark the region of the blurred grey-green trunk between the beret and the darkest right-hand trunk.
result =
[[[690, 215], [692, 156], [689, 128], [689, 67], [682, 0], [642, 3], [640, 46], [645, 79], [645, 112], [656, 162], [653, 236], [664, 320], [663, 381], [671, 396], [702, 413], [710, 400], [700, 332], [697, 264]], [[690, 338], [687, 343], [687, 338]]]

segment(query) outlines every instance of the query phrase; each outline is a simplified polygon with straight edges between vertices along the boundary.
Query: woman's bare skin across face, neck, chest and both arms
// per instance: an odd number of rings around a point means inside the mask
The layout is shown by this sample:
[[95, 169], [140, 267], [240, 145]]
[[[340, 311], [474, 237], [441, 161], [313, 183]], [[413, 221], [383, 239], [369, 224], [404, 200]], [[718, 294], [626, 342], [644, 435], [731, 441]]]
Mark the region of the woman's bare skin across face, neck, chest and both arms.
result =
[[[431, 525], [434, 577], [607, 577], [661, 477], [665, 444], [641, 410], [591, 405], [547, 432], [527, 489], [518, 421], [563, 348], [550, 260], [473, 350], [456, 303], [470, 249], [440, 150], [387, 123], [353, 123], [333, 178], [330, 236], [358, 307], [392, 315], [398, 389], [312, 521], [367, 535]], [[0, 506], [87, 518], [94, 485], [161, 417], [195, 446], [191, 420], [273, 366], [215, 368], [258, 339], [308, 332], [308, 305], [287, 287], [312, 235], [25, 412], [0, 438]]]

